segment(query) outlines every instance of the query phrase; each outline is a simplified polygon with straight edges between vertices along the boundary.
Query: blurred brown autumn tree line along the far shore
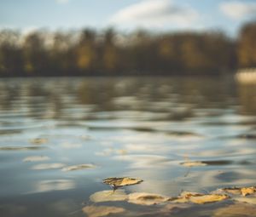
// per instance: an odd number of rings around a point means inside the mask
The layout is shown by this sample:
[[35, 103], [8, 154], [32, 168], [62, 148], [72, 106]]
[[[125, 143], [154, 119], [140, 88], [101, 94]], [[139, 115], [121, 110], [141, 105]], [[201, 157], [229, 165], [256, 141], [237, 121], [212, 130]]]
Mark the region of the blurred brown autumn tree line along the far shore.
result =
[[0, 31], [0, 76], [209, 75], [256, 66], [256, 22], [221, 31]]

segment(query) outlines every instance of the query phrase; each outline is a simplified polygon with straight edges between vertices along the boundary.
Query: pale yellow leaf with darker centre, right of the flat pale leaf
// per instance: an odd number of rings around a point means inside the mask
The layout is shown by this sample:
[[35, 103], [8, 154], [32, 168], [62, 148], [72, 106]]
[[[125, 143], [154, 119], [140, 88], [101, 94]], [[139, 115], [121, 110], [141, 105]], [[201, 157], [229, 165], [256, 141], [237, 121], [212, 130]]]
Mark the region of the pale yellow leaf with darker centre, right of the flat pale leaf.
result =
[[129, 203], [136, 203], [140, 205], [154, 205], [158, 203], [165, 203], [170, 197], [151, 193], [131, 193], [129, 194]]

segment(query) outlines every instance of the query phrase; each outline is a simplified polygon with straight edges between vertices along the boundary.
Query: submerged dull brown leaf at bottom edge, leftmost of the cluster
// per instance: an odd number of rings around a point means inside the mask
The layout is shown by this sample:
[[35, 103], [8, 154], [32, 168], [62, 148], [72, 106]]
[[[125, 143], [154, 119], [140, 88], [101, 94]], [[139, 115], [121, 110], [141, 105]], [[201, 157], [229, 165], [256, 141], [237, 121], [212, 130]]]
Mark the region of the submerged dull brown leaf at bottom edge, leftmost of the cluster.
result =
[[86, 206], [82, 211], [89, 217], [101, 217], [108, 214], [119, 214], [125, 212], [125, 208], [110, 206]]

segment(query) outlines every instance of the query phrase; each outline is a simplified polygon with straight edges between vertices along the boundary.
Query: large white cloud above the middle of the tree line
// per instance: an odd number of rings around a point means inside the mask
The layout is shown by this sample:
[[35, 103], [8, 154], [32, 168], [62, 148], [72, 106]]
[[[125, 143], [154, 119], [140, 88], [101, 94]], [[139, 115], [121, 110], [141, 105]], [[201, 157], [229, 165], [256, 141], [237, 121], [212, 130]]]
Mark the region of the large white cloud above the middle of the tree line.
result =
[[144, 0], [120, 9], [110, 19], [113, 25], [189, 27], [199, 14], [187, 5], [177, 6], [172, 0]]

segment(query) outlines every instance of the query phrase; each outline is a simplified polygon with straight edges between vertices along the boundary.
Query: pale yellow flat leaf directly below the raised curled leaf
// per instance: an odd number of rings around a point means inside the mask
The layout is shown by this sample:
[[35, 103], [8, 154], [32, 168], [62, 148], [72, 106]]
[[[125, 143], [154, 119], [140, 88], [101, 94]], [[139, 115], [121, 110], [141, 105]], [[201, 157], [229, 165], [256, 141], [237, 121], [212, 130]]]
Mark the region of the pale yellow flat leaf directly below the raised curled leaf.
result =
[[125, 201], [128, 199], [128, 195], [125, 191], [98, 191], [90, 195], [90, 201], [94, 203], [108, 202], [108, 201]]

